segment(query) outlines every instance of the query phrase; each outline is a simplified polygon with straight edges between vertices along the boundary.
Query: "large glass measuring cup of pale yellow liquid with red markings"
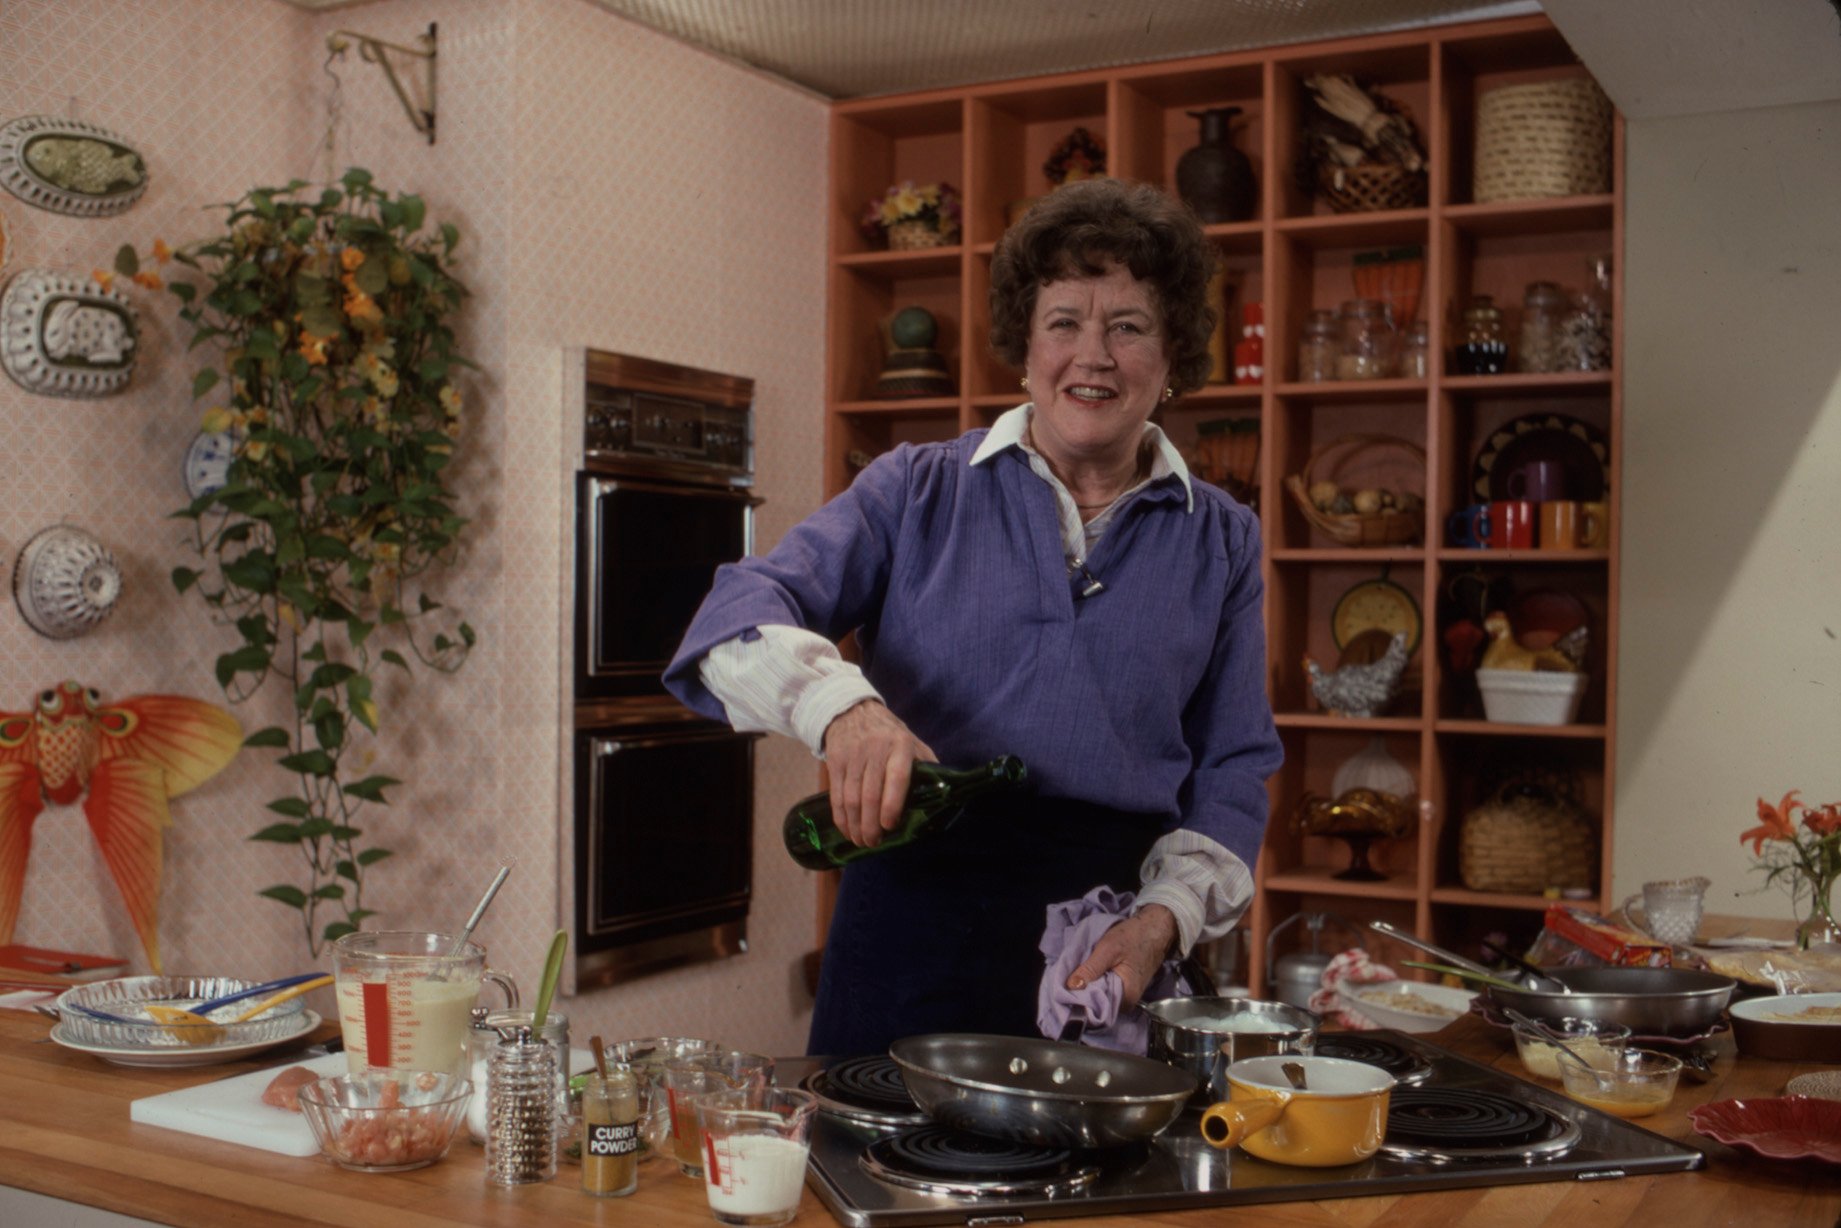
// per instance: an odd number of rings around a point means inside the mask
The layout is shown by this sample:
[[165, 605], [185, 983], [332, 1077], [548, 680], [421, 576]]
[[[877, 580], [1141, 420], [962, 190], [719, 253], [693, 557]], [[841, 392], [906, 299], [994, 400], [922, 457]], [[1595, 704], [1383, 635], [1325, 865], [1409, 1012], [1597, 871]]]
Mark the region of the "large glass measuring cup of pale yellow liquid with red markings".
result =
[[486, 950], [453, 933], [383, 930], [348, 933], [333, 943], [333, 983], [346, 1064], [365, 1070], [466, 1073], [473, 1002], [492, 981], [506, 1007], [517, 985], [486, 967]]

